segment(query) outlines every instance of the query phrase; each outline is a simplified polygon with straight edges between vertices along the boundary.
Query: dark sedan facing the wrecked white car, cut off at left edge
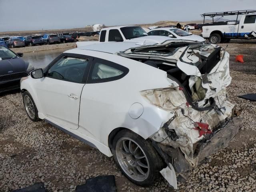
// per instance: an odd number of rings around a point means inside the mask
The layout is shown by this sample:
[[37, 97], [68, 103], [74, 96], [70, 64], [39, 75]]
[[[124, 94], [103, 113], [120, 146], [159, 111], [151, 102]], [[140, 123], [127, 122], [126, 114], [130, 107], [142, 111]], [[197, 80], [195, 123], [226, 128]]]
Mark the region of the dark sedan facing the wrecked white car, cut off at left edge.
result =
[[20, 79], [34, 70], [32, 64], [25, 62], [23, 53], [14, 53], [0, 45], [0, 92], [20, 88]]

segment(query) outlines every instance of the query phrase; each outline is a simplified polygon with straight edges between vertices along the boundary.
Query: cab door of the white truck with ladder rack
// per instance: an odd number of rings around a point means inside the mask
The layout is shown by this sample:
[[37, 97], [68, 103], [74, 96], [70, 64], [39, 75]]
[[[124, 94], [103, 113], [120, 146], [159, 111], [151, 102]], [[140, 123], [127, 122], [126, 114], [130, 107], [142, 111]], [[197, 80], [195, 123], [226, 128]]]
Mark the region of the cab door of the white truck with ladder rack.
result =
[[241, 18], [238, 37], [256, 38], [256, 15], [245, 15]]

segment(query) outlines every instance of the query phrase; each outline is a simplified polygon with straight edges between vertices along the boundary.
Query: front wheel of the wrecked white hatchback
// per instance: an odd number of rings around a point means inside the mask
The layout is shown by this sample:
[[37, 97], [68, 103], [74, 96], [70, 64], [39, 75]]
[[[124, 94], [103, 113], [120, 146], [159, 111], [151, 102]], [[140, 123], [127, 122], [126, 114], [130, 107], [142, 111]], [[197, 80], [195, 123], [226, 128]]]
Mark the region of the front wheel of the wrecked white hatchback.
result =
[[38, 110], [30, 93], [28, 91], [24, 91], [22, 93], [22, 98], [26, 113], [30, 120], [34, 122], [39, 121], [40, 118], [38, 118]]

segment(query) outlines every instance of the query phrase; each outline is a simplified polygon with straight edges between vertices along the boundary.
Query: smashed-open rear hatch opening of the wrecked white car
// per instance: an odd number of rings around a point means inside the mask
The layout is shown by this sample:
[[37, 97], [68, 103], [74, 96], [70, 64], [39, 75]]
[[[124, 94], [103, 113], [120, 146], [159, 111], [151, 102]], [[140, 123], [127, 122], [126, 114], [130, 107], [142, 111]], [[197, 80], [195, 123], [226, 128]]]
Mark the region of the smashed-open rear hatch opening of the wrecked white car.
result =
[[[196, 42], [175, 42], [131, 48], [119, 54], [166, 71], [168, 78], [177, 82], [184, 92], [188, 105], [195, 110], [210, 110], [216, 105], [214, 98], [211, 96], [206, 98], [206, 93], [216, 92], [216, 84], [213, 86], [208, 76], [224, 56], [220, 46]], [[196, 69], [196, 75], [186, 74], [189, 73], [190, 66], [193, 70]], [[227, 78], [227, 80], [230, 79]]]

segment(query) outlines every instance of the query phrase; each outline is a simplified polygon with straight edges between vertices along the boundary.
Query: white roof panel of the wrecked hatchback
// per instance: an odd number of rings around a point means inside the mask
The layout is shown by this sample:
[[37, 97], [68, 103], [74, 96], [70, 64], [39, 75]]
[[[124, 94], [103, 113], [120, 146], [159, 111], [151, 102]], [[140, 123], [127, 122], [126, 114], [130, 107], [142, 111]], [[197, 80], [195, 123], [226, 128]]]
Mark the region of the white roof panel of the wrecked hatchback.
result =
[[[152, 45], [152, 43], [144, 43], [144, 45]], [[138, 45], [138, 42], [106, 42], [106, 43], [96, 43], [96, 44], [81, 46], [76, 49], [100, 51], [100, 52], [114, 54], [116, 52], [124, 51], [130, 48], [139, 47], [139, 46], [142, 46], [142, 45]]]

